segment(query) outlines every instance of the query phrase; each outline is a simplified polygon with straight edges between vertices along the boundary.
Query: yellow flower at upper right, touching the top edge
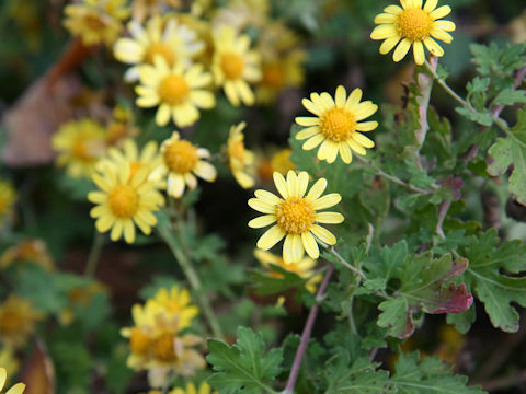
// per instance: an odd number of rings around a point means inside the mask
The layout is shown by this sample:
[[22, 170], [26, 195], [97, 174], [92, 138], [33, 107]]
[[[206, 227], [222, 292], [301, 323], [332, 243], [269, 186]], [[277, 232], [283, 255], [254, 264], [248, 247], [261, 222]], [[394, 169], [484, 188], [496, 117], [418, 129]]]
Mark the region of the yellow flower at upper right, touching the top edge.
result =
[[422, 8], [422, 0], [400, 0], [399, 5], [389, 5], [375, 18], [375, 27], [370, 33], [373, 39], [385, 39], [380, 54], [392, 54], [395, 61], [400, 61], [413, 45], [414, 62], [419, 66], [425, 61], [424, 45], [434, 56], [443, 56], [444, 49], [433, 39], [449, 44], [453, 37], [447, 32], [455, 30], [455, 23], [439, 21], [451, 12], [449, 5], [436, 8], [438, 0], [427, 0]]

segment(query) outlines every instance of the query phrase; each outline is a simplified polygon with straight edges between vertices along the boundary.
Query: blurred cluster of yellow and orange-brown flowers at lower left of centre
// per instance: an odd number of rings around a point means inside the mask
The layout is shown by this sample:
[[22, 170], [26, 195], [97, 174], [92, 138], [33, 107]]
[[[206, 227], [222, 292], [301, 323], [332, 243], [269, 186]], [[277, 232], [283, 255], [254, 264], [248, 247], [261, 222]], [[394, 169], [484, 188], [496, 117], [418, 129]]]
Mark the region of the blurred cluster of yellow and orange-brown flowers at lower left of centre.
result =
[[170, 374], [190, 376], [206, 366], [202, 352], [194, 349], [203, 339], [187, 333], [199, 312], [190, 302], [187, 290], [161, 288], [144, 305], [134, 305], [134, 326], [121, 331], [129, 339], [128, 367], [148, 370], [153, 387], [162, 385]]

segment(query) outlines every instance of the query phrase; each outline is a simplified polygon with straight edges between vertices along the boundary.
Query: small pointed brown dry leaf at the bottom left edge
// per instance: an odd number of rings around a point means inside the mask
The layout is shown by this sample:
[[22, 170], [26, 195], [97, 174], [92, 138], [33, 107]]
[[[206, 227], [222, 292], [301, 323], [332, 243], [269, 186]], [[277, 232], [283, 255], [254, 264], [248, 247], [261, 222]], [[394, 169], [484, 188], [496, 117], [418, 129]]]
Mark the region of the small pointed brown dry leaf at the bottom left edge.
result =
[[22, 382], [26, 384], [24, 394], [55, 393], [55, 368], [39, 339], [36, 340], [36, 346], [24, 364]]

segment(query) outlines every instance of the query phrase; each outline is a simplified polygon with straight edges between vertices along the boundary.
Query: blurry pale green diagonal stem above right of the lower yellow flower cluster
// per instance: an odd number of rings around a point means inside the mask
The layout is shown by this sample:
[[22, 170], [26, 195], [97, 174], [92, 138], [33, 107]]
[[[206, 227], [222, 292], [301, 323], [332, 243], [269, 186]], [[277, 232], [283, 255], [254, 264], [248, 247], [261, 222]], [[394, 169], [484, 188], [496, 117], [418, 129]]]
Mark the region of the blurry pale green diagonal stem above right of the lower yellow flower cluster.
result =
[[211, 333], [216, 338], [222, 339], [222, 331], [219, 322], [214, 313], [214, 310], [210, 305], [210, 302], [206, 294], [203, 293], [203, 285], [201, 283], [201, 279], [197, 275], [197, 271], [194, 269], [192, 262], [190, 258], [186, 257], [182, 247], [179, 245], [176, 240], [173, 236], [170, 236], [170, 229], [159, 225], [158, 227], [159, 234], [164, 240], [167, 245], [170, 247], [175, 259], [179, 262], [179, 265], [183, 269], [186, 279], [188, 279], [190, 286], [194, 290], [197, 296], [197, 301], [199, 302], [201, 309], [205, 315], [205, 318], [210, 326]]

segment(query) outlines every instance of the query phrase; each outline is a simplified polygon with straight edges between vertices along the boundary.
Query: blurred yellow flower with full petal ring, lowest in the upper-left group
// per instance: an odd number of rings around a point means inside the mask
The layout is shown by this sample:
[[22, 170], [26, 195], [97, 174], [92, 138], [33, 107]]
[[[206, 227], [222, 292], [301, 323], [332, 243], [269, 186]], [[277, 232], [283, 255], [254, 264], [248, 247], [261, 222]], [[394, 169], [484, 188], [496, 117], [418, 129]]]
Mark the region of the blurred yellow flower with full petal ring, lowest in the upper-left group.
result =
[[139, 70], [140, 86], [135, 90], [140, 107], [159, 106], [156, 124], [165, 126], [172, 117], [178, 127], [191, 126], [199, 118], [197, 108], [216, 105], [214, 94], [204, 89], [211, 83], [211, 74], [202, 65], [185, 68], [182, 62], [170, 67], [162, 56], [156, 55], [153, 66]]

